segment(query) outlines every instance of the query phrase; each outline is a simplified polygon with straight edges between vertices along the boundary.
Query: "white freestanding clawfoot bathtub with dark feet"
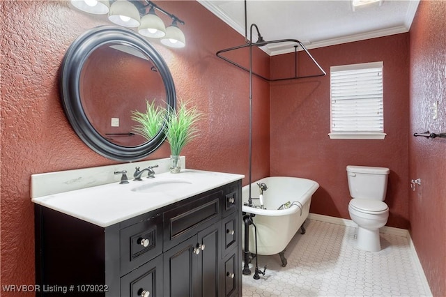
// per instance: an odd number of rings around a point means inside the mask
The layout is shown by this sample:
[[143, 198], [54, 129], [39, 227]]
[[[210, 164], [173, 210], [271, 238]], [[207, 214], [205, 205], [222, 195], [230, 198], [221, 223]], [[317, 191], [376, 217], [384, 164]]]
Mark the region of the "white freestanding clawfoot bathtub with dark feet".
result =
[[[263, 192], [263, 206], [265, 209], [245, 205], [249, 199], [249, 185], [242, 188], [243, 212], [255, 215], [252, 222], [257, 229], [256, 252], [254, 226], [249, 225], [249, 252], [263, 255], [280, 254], [282, 266], [286, 266], [283, 252], [291, 238], [307, 219], [312, 195], [319, 188], [319, 184], [316, 181], [297, 177], [272, 176], [262, 178], [251, 184], [251, 197], [254, 206], [260, 205], [258, 184], [261, 183], [265, 183], [268, 187]], [[283, 204], [286, 204], [286, 202], [291, 202], [292, 205], [289, 208], [284, 208]], [[245, 233], [245, 227], [243, 227], [243, 233]], [[303, 227], [302, 233], [305, 233]], [[242, 238], [245, 238], [245, 234]]]

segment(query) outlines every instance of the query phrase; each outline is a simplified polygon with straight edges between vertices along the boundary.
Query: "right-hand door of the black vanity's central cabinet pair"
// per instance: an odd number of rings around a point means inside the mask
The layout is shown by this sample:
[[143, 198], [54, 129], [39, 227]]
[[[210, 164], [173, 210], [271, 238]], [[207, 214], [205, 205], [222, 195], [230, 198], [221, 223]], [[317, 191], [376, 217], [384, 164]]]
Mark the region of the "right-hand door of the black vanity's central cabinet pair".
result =
[[200, 286], [194, 296], [218, 296], [218, 264], [221, 259], [220, 224], [213, 224], [199, 232], [198, 242], [201, 257], [198, 258]]

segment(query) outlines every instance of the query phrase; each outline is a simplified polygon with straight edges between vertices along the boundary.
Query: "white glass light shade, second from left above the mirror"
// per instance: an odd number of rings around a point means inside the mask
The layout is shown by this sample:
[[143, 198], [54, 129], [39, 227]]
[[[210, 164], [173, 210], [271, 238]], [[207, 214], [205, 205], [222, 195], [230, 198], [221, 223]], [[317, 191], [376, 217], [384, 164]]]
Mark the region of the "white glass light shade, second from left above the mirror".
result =
[[138, 8], [127, 0], [115, 1], [110, 6], [109, 20], [120, 26], [128, 26], [130, 28], [141, 24]]

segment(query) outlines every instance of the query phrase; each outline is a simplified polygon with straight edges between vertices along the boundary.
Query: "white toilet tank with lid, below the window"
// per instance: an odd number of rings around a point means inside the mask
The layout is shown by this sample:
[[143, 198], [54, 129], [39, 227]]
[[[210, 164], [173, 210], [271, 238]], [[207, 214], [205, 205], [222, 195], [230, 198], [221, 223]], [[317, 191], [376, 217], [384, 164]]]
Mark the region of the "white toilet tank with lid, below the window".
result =
[[385, 167], [348, 165], [348, 190], [351, 197], [384, 201], [389, 172], [390, 170]]

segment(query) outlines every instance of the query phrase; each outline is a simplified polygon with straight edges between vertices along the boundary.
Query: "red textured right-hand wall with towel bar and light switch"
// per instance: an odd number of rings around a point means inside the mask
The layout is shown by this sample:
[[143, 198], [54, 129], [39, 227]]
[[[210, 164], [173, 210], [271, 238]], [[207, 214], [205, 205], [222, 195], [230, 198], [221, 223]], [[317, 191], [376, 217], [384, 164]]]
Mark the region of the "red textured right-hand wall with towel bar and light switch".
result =
[[[446, 2], [421, 1], [410, 28], [410, 132], [446, 132]], [[438, 101], [438, 119], [431, 106]], [[410, 234], [433, 296], [446, 296], [446, 139], [409, 138]]]

